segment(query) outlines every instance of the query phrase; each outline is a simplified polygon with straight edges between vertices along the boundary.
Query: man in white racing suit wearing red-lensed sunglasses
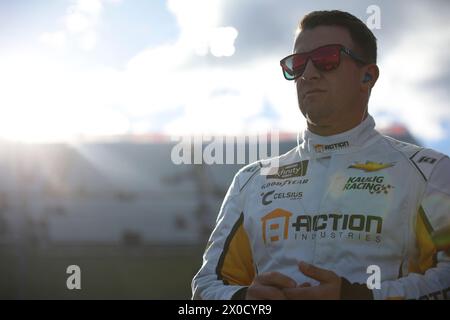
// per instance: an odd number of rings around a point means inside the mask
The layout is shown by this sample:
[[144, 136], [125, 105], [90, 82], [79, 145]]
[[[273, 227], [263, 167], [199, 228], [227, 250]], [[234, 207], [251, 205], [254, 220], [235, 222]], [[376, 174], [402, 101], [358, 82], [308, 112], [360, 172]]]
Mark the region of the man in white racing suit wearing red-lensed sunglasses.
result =
[[371, 31], [312, 12], [281, 66], [307, 129], [267, 174], [236, 174], [193, 298], [450, 298], [450, 159], [375, 130]]

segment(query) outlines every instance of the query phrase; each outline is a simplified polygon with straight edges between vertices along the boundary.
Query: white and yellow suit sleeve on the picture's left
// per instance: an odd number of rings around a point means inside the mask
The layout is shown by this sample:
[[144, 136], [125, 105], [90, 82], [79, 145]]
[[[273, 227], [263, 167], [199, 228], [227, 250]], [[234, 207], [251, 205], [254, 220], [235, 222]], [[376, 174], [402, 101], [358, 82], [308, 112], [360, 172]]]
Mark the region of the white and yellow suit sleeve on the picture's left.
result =
[[[216, 226], [203, 255], [203, 264], [192, 280], [192, 299], [231, 299], [254, 278], [252, 251], [244, 228], [240, 171], [228, 189]], [[236, 297], [237, 295], [235, 295]]]

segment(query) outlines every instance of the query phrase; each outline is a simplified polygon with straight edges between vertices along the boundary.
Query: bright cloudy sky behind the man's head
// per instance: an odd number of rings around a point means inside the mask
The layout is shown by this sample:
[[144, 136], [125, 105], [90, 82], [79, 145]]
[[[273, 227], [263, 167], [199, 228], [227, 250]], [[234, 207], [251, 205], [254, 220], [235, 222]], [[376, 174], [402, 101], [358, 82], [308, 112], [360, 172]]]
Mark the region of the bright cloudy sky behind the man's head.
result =
[[0, 0], [0, 137], [247, 133], [304, 127], [279, 60], [307, 12], [380, 8], [369, 110], [450, 153], [450, 3]]

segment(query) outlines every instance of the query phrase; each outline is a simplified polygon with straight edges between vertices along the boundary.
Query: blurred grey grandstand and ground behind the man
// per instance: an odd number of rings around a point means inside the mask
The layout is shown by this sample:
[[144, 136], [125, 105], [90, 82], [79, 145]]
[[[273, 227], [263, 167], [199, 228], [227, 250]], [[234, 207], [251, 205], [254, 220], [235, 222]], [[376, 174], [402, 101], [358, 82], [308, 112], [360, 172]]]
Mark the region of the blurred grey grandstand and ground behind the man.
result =
[[[382, 131], [418, 144], [408, 130]], [[281, 135], [279, 152], [296, 145]], [[0, 298], [189, 298], [243, 164], [175, 165], [163, 136], [0, 146]], [[245, 148], [248, 151], [248, 146]], [[65, 286], [68, 265], [82, 290]]]

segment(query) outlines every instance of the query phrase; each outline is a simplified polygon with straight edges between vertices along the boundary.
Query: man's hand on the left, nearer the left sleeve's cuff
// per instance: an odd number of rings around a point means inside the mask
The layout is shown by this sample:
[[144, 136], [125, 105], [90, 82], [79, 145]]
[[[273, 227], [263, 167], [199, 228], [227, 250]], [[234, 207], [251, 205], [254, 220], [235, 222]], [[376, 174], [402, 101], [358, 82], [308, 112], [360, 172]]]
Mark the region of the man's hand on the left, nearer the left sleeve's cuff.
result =
[[287, 299], [283, 290], [294, 289], [297, 283], [279, 272], [262, 273], [253, 279], [247, 289], [247, 300], [283, 300]]

